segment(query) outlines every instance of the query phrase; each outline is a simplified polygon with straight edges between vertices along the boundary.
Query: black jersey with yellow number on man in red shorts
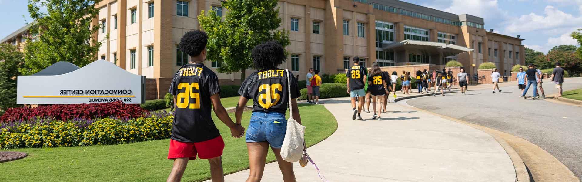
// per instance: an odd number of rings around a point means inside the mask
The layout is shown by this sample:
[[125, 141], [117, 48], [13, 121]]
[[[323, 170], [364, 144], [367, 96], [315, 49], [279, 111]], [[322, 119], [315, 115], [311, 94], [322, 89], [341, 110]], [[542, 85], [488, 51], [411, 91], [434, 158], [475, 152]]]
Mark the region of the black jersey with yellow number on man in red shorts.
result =
[[169, 93], [176, 96], [171, 138], [203, 142], [220, 136], [212, 121], [210, 96], [220, 93], [218, 77], [204, 64], [186, 64], [172, 79]]

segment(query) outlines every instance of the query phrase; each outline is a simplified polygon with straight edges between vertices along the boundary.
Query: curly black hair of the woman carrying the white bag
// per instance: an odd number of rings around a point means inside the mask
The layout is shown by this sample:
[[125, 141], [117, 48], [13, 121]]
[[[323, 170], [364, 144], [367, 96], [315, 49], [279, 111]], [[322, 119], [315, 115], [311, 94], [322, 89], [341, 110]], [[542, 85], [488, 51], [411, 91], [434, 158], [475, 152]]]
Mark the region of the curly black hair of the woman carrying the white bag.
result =
[[253, 58], [254, 68], [259, 71], [276, 68], [286, 60], [285, 50], [276, 41], [268, 41], [255, 46], [251, 58]]

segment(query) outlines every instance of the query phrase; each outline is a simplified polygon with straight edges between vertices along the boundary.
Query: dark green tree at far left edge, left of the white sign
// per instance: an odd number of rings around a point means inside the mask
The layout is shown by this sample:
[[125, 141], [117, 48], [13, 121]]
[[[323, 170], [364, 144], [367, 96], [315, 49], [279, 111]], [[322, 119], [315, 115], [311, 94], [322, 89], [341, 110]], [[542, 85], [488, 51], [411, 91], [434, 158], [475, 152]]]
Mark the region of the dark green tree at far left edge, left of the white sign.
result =
[[12, 44], [0, 44], [0, 115], [16, 106], [16, 78], [20, 75], [24, 54]]

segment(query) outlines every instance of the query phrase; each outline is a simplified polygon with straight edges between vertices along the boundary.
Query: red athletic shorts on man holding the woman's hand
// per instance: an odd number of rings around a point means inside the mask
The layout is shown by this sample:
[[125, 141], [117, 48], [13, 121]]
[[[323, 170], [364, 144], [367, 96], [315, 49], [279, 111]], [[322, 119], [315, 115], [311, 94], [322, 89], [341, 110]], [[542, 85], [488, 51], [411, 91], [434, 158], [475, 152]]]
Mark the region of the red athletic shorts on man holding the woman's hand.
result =
[[168, 159], [189, 158], [196, 159], [196, 153], [200, 159], [211, 159], [222, 156], [224, 141], [222, 136], [203, 142], [180, 142], [170, 139]]

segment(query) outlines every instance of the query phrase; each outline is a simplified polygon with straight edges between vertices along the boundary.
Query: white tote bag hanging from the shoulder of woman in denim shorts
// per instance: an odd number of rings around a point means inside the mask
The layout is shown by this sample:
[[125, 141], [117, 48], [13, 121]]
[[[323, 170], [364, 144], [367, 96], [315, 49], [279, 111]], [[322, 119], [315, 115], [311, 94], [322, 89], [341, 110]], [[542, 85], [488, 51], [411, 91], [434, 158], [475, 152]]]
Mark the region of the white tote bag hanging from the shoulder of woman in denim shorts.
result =
[[305, 127], [293, 119], [293, 108], [291, 106], [291, 78], [287, 71], [287, 88], [289, 95], [289, 120], [287, 120], [287, 131], [283, 146], [281, 147], [281, 157], [286, 162], [297, 162], [303, 157]]

